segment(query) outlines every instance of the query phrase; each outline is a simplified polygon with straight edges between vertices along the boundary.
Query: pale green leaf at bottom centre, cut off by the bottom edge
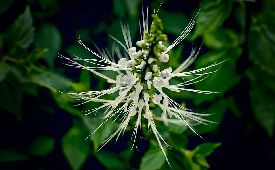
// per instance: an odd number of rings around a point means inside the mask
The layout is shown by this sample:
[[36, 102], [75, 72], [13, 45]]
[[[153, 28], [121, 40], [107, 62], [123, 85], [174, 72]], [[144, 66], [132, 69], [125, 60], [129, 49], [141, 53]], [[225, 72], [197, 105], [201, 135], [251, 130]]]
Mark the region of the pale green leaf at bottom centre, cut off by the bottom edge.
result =
[[[163, 148], [166, 152], [167, 148]], [[165, 156], [160, 148], [149, 148], [141, 158], [140, 170], [160, 169], [165, 161]]]

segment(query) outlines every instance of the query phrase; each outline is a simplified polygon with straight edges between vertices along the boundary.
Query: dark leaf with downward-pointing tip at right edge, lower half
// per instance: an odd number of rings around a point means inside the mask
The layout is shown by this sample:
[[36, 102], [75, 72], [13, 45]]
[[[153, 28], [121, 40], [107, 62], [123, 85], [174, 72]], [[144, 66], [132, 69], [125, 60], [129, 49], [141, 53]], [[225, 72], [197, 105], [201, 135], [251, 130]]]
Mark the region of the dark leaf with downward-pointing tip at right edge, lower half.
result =
[[266, 130], [269, 137], [274, 135], [275, 100], [274, 93], [262, 86], [254, 85], [250, 90], [251, 106], [255, 119]]

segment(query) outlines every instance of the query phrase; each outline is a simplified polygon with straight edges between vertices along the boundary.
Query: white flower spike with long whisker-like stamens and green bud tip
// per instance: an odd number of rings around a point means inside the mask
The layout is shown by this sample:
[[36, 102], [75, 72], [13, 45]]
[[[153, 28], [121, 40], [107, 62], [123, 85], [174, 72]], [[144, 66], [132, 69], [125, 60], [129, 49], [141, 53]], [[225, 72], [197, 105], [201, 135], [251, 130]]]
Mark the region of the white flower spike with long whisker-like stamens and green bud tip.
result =
[[[198, 50], [196, 48], [193, 48], [190, 56], [174, 71], [169, 66], [167, 66], [166, 68], [160, 68], [159, 63], [167, 63], [169, 61], [169, 58], [173, 57], [169, 56], [169, 51], [188, 35], [188, 33], [191, 31], [195, 24], [196, 17], [193, 17], [191, 19], [188, 26], [183, 30], [181, 35], [169, 47], [165, 47], [163, 45], [163, 42], [167, 41], [168, 38], [167, 35], [165, 35], [162, 32], [163, 25], [161, 19], [159, 19], [159, 17], [155, 14], [153, 14], [152, 17], [153, 20], [151, 28], [149, 30], [148, 10], [146, 18], [143, 14], [143, 29], [141, 29], [141, 23], [139, 24], [141, 40], [137, 41], [134, 46], [131, 43], [129, 27], [126, 25], [121, 24], [122, 33], [125, 39], [125, 45], [118, 41], [115, 37], [111, 36], [126, 51], [126, 55], [123, 56], [118, 48], [114, 48], [118, 60], [115, 59], [114, 52], [113, 55], [110, 55], [108, 51], [104, 50], [100, 51], [98, 49], [98, 54], [92, 51], [82, 43], [80, 37], [78, 39], [75, 38], [76, 41], [78, 41], [78, 43], [80, 43], [83, 47], [89, 50], [92, 54], [97, 56], [98, 59], [83, 59], [78, 56], [75, 56], [75, 58], [70, 59], [60, 54], [58, 54], [57, 56], [69, 60], [70, 62], [67, 64], [69, 66], [89, 70], [93, 74], [102, 77], [103, 79], [106, 79], [108, 83], [114, 84], [114, 87], [112, 86], [112, 88], [106, 90], [67, 93], [75, 96], [76, 98], [84, 100], [82, 104], [87, 102], [102, 103], [102, 105], [98, 108], [84, 111], [85, 115], [96, 113], [98, 110], [106, 108], [105, 116], [103, 117], [103, 119], [106, 120], [103, 123], [105, 123], [111, 118], [115, 118], [114, 121], [117, 118], [120, 118], [121, 123], [117, 131], [103, 142], [101, 148], [116, 135], [117, 140], [120, 134], [123, 134], [125, 132], [126, 127], [130, 121], [130, 118], [134, 117], [134, 119], [136, 119], [136, 123], [132, 134], [132, 137], [134, 137], [133, 146], [136, 145], [137, 147], [136, 137], [137, 133], [139, 133], [140, 136], [141, 122], [148, 122], [148, 132], [153, 132], [157, 139], [159, 147], [162, 149], [163, 154], [166, 157], [166, 153], [164, 152], [161, 143], [163, 142], [168, 148], [170, 148], [170, 146], [164, 141], [163, 137], [157, 130], [155, 125], [156, 120], [163, 121], [164, 125], [166, 126], [168, 126], [169, 123], [187, 126], [194, 133], [196, 132], [193, 130], [192, 126], [196, 123], [208, 125], [208, 123], [215, 122], [201, 118], [201, 116], [208, 116], [212, 114], [200, 114], [191, 112], [192, 110], [181, 106], [173, 99], [171, 99], [167, 94], [164, 93], [163, 89], [166, 88], [175, 92], [185, 90], [205, 94], [214, 93], [213, 91], [201, 91], [184, 88], [184, 86], [204, 80], [209, 76], [209, 74], [213, 73], [204, 71], [220, 63], [215, 62], [212, 65], [205, 68], [184, 72], [184, 70], [194, 62], [200, 51], [200, 48]], [[91, 66], [79, 64], [77, 62], [78, 60], [82, 60], [86, 63], [89, 63], [91, 64]], [[108, 74], [101, 73], [102, 70], [117, 72], [118, 75], [116, 76], [116, 79], [111, 79], [110, 77], [108, 77]], [[183, 81], [182, 83], [175, 85], [169, 84], [169, 80], [173, 77], [182, 77], [184, 80], [184, 77], [187, 76], [195, 76], [195, 78], [189, 79], [188, 81]], [[101, 99], [101, 96], [111, 94], [116, 91], [118, 91], [119, 95], [115, 98], [115, 100]], [[149, 107], [151, 102], [154, 103], [154, 106], [159, 106], [161, 108], [161, 117], [153, 115], [151, 107]], [[195, 124], [190, 124], [190, 122], [195, 122]], [[95, 131], [97, 129], [95, 129]], [[91, 133], [89, 136], [91, 136], [93, 133]], [[168, 162], [167, 157], [166, 160]]]

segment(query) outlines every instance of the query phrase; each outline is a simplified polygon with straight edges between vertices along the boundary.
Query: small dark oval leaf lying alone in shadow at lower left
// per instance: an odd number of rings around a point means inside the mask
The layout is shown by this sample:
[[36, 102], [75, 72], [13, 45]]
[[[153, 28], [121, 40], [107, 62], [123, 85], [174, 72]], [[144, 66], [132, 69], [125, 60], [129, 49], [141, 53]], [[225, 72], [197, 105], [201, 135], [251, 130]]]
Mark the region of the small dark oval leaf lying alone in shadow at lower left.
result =
[[52, 137], [39, 137], [30, 144], [30, 154], [33, 156], [46, 156], [55, 146], [55, 140]]

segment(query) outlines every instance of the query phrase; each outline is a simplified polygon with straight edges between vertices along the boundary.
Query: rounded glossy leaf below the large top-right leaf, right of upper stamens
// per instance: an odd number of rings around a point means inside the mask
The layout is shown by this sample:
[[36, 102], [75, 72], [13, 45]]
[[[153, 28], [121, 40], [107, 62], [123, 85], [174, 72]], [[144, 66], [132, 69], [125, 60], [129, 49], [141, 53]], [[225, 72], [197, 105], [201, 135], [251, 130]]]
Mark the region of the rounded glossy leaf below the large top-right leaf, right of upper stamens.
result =
[[210, 49], [236, 48], [243, 42], [234, 30], [220, 28], [203, 34], [204, 45]]

